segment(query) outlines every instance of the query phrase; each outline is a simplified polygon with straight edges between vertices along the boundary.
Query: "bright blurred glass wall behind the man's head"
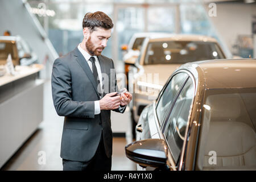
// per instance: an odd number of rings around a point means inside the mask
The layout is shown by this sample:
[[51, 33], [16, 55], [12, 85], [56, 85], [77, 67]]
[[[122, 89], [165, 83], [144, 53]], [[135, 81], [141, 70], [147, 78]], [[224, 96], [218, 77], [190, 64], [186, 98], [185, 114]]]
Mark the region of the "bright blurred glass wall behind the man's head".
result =
[[[135, 32], [201, 34], [217, 38], [199, 0], [28, 0], [31, 7], [53, 10], [36, 15], [59, 55], [82, 41], [82, 19], [87, 12], [104, 11], [114, 20], [114, 32], [103, 54], [122, 60], [121, 46]], [[45, 7], [44, 7], [45, 6]]]

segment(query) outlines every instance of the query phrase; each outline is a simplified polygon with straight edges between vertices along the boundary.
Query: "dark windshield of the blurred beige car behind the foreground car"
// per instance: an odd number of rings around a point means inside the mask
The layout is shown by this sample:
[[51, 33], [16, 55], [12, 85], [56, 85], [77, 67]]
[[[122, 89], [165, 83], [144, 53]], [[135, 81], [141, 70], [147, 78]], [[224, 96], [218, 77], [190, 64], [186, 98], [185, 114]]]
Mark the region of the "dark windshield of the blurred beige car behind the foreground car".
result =
[[211, 42], [152, 42], [144, 64], [184, 64], [192, 61], [225, 59], [220, 47]]

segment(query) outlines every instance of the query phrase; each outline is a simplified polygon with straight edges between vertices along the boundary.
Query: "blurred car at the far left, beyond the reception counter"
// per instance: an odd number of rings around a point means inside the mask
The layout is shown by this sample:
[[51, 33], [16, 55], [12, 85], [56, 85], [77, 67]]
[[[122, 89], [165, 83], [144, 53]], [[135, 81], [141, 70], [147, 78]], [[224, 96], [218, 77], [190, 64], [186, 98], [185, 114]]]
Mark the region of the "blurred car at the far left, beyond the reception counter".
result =
[[14, 65], [30, 65], [38, 61], [38, 56], [20, 36], [0, 36], [0, 65], [6, 64], [9, 54]]

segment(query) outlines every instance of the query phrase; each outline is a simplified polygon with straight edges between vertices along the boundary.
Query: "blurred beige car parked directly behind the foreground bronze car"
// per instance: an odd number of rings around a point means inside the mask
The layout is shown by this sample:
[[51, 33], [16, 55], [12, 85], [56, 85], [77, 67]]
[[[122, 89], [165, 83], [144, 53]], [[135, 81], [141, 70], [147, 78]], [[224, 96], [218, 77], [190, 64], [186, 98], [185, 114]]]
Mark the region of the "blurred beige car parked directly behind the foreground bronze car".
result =
[[[148, 104], [158, 96], [170, 73], [181, 64], [212, 59], [225, 59], [217, 40], [201, 35], [169, 35], [165, 38], [146, 38], [141, 56], [131, 69], [129, 89], [133, 90], [131, 115], [133, 125]], [[133, 128], [133, 133], [135, 129]]]

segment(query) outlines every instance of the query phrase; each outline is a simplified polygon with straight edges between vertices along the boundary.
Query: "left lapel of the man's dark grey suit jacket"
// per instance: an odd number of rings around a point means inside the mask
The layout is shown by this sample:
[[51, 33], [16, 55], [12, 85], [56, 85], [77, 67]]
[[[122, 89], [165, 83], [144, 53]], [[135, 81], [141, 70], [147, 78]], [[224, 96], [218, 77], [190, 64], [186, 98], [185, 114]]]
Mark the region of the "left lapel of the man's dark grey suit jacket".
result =
[[88, 63], [86, 63], [86, 60], [84, 59], [84, 56], [82, 56], [82, 53], [79, 51], [79, 49], [76, 47], [74, 50], [75, 54], [74, 56], [76, 57], [76, 61], [80, 64], [86, 75], [88, 76], [90, 82], [92, 82], [93, 88], [96, 91], [98, 97], [100, 98], [100, 95], [98, 94], [97, 91], [97, 85], [93, 77], [92, 70], [90, 70], [90, 67]]

